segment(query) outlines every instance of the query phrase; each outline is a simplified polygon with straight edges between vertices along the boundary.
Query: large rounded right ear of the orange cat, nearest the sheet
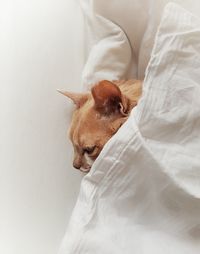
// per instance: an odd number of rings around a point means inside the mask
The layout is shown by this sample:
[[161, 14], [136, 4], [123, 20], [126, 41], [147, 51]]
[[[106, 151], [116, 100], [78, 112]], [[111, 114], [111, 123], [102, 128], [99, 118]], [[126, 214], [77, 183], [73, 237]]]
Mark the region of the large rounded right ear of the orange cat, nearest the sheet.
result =
[[95, 85], [91, 92], [95, 108], [100, 113], [109, 115], [120, 112], [124, 116], [127, 115], [128, 99], [122, 95], [119, 87], [114, 83], [103, 80]]

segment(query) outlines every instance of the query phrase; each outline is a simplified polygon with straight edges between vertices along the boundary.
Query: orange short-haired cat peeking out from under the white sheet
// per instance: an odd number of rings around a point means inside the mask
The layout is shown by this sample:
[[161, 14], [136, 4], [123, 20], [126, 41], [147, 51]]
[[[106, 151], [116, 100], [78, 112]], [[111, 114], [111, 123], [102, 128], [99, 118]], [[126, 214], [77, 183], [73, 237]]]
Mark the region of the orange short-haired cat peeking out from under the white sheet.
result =
[[103, 80], [86, 94], [58, 91], [76, 105], [69, 131], [74, 146], [73, 166], [88, 172], [106, 142], [137, 105], [142, 81]]

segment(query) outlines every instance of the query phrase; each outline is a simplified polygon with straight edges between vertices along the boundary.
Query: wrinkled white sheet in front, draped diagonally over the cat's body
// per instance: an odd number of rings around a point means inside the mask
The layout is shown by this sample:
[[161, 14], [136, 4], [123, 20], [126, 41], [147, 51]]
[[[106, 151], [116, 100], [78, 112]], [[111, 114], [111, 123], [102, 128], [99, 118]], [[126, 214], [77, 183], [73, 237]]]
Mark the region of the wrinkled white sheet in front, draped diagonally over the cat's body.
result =
[[143, 97], [84, 177], [60, 254], [200, 253], [199, 38], [199, 19], [168, 4]]

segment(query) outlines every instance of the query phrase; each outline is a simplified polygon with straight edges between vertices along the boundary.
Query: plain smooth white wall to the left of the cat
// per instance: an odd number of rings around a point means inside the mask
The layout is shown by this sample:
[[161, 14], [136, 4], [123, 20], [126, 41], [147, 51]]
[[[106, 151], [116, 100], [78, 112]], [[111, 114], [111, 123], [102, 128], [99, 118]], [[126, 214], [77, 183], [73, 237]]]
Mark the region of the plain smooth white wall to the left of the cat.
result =
[[75, 0], [0, 1], [0, 253], [56, 253], [82, 175], [72, 168], [83, 18]]

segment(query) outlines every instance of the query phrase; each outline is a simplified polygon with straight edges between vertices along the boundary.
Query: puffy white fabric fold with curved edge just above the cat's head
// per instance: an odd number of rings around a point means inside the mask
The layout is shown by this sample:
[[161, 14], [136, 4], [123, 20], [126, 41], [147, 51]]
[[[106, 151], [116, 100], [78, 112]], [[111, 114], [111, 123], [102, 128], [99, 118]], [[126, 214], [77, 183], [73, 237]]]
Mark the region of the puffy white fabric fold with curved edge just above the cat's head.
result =
[[83, 88], [89, 89], [104, 79], [125, 78], [131, 64], [136, 70], [136, 61], [127, 36], [118, 25], [94, 11], [92, 1], [83, 0], [80, 3], [92, 34], [92, 46], [82, 74]]

